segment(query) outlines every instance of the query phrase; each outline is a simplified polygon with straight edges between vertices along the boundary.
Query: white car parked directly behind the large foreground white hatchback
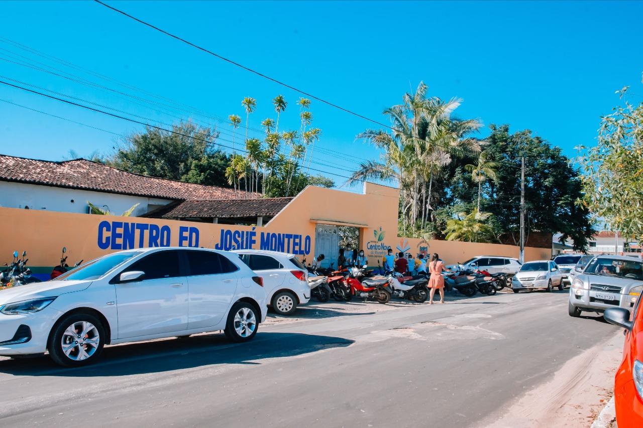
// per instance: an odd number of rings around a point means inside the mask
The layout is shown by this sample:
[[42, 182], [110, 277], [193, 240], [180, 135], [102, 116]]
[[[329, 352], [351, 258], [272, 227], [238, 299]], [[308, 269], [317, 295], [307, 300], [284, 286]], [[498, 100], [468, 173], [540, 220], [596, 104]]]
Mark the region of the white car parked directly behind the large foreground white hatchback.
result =
[[266, 250], [233, 250], [264, 278], [266, 301], [280, 315], [292, 315], [298, 305], [311, 299], [308, 270], [294, 254]]

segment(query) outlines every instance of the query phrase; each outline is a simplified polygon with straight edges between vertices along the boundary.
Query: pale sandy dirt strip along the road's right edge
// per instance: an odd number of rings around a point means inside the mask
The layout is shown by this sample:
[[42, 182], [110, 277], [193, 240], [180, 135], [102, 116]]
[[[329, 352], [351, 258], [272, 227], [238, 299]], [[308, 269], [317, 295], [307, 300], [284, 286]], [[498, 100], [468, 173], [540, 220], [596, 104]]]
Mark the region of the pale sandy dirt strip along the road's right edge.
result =
[[612, 395], [622, 358], [623, 335], [567, 361], [554, 378], [532, 389], [500, 418], [480, 427], [588, 428]]

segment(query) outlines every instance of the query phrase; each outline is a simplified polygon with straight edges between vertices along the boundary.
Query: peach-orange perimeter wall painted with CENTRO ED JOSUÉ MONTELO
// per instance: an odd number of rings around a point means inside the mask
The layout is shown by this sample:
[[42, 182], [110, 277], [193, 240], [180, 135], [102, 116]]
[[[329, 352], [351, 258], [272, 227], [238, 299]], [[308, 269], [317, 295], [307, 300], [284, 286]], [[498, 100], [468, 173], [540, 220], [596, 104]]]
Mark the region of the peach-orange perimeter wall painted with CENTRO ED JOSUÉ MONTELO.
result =
[[[372, 264], [377, 263], [376, 258], [388, 247], [396, 253], [397, 247], [408, 247], [413, 255], [419, 253], [420, 240], [397, 236], [397, 189], [367, 183], [364, 191], [356, 194], [307, 187], [263, 227], [0, 208], [0, 260], [10, 260], [14, 250], [26, 250], [30, 266], [52, 267], [59, 262], [62, 246], [68, 248], [68, 262], [81, 258], [91, 260], [124, 249], [123, 242], [134, 248], [149, 246], [152, 229], [152, 235], [160, 236], [158, 241], [152, 240], [151, 245], [156, 242], [161, 246], [197, 245], [220, 249], [237, 245], [258, 249], [263, 237], [268, 246], [280, 242], [284, 244], [284, 251], [310, 260], [314, 254], [315, 222], [360, 225], [361, 245]], [[199, 237], [198, 243], [194, 239], [190, 242], [190, 236], [195, 235]], [[129, 245], [125, 245], [126, 248]], [[439, 253], [447, 263], [462, 262], [477, 255], [518, 256], [518, 247], [511, 245], [467, 242], [430, 241], [428, 251]], [[525, 260], [549, 257], [549, 249], [525, 249]]]

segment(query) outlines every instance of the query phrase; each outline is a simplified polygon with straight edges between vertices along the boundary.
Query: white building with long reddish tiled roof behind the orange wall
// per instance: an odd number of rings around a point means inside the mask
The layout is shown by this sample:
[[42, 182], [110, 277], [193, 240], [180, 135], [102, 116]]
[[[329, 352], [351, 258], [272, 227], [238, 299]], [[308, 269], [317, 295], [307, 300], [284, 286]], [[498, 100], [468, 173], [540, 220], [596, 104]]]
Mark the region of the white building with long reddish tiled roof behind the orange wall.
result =
[[138, 204], [132, 215], [140, 216], [186, 199], [240, 198], [232, 189], [132, 174], [86, 159], [53, 162], [0, 155], [0, 206], [6, 208], [87, 213], [91, 202], [120, 215]]

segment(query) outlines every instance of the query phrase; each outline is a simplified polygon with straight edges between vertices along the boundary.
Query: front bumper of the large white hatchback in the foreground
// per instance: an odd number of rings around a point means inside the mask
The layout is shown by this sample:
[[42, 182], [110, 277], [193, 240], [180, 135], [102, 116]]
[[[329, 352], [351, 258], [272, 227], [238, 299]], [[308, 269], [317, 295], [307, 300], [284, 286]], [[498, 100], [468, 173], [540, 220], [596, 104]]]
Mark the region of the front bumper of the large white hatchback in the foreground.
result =
[[[54, 308], [47, 307], [40, 312], [25, 315], [0, 314], [0, 355], [29, 355], [44, 353], [47, 349], [49, 333], [56, 320], [62, 315]], [[19, 339], [19, 328], [28, 326], [31, 337], [23, 343], [13, 343]], [[23, 337], [24, 339], [24, 337]], [[4, 344], [3, 344], [4, 343]]]

